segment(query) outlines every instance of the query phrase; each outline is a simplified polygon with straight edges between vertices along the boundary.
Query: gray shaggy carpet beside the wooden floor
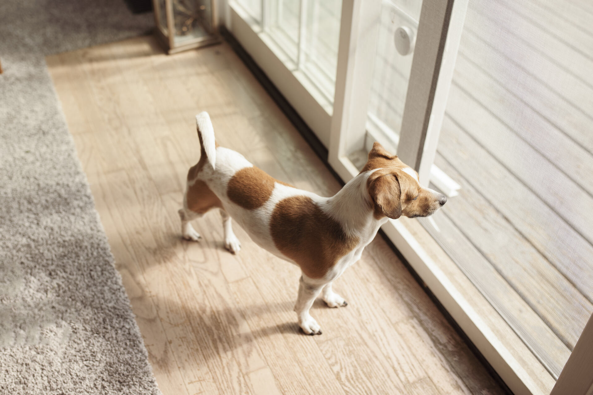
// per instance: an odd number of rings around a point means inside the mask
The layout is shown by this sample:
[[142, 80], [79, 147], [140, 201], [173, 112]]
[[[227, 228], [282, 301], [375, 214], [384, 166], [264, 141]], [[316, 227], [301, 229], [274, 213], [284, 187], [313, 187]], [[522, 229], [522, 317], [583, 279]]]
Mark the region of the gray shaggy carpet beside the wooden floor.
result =
[[1, 1], [1, 394], [160, 394], [44, 61], [152, 24], [123, 0]]

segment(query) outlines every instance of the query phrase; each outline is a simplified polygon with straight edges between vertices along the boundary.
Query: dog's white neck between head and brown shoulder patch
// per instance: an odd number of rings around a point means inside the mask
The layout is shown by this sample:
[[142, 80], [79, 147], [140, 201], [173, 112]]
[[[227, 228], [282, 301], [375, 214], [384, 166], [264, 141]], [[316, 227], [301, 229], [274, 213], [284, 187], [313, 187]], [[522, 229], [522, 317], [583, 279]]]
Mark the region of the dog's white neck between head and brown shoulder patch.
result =
[[380, 226], [372, 215], [371, 196], [366, 188], [369, 173], [355, 176], [324, 204], [325, 211], [339, 221], [350, 235], [367, 233], [370, 228], [378, 229]]

